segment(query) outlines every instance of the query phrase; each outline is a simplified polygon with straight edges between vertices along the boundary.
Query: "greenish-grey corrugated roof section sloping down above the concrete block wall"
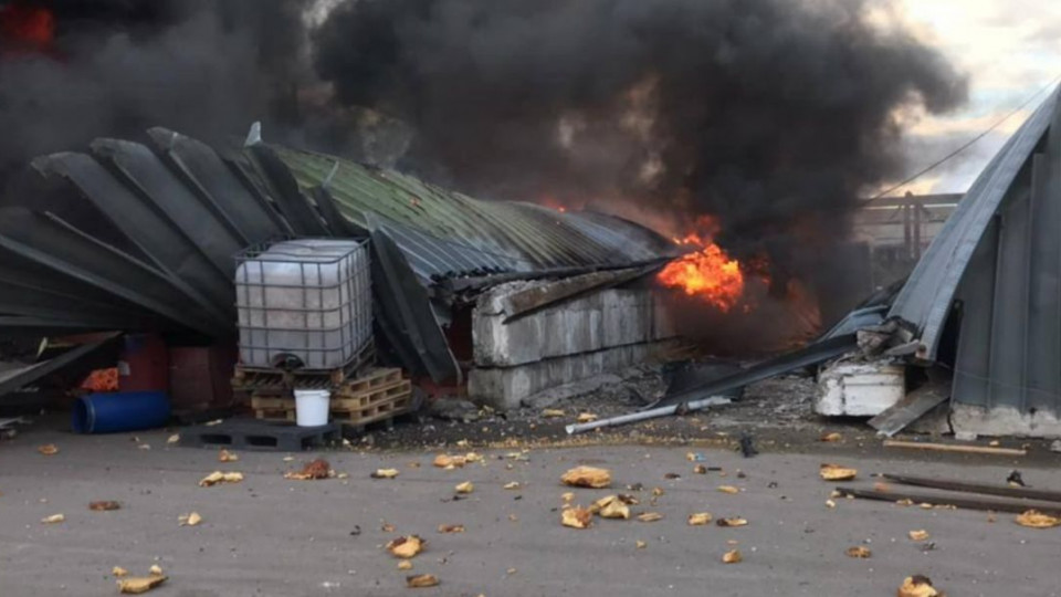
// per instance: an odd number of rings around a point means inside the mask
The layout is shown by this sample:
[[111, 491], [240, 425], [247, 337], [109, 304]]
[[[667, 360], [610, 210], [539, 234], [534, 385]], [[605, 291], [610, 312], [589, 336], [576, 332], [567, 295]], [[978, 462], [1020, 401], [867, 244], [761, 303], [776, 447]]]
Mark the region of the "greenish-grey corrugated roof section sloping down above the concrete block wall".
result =
[[304, 191], [326, 185], [344, 216], [360, 227], [390, 232], [426, 280], [627, 266], [674, 251], [663, 237], [621, 218], [483, 201], [396, 171], [309, 151], [273, 149]]

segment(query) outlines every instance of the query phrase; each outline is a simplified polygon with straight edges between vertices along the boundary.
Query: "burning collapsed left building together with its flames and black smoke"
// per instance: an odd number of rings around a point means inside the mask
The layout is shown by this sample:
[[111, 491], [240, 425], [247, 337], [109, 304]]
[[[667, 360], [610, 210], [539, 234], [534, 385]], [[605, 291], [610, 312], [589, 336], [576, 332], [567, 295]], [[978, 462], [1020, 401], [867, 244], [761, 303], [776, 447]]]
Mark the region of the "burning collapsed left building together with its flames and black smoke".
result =
[[[806, 339], [852, 198], [901, 169], [896, 114], [965, 94], [871, 9], [3, 2], [4, 250], [12, 277], [52, 272], [4, 321], [219, 338], [242, 247], [365, 235], [391, 357], [498, 404], [676, 331]], [[256, 119], [270, 143], [227, 137]], [[36, 156], [65, 188], [24, 182]]]

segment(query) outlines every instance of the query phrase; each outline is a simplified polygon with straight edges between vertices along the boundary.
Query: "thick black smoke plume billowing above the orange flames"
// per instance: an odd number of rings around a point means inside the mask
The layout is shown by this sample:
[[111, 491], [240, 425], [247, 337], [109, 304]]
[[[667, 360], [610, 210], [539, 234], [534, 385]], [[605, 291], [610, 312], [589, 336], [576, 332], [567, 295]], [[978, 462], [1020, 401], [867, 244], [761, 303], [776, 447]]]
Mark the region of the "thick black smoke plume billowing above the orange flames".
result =
[[872, 25], [874, 6], [360, 0], [314, 56], [339, 103], [413, 126], [407, 167], [487, 197], [632, 202], [679, 229], [711, 214], [724, 247], [798, 275], [901, 174], [896, 111], [966, 95], [937, 51]]

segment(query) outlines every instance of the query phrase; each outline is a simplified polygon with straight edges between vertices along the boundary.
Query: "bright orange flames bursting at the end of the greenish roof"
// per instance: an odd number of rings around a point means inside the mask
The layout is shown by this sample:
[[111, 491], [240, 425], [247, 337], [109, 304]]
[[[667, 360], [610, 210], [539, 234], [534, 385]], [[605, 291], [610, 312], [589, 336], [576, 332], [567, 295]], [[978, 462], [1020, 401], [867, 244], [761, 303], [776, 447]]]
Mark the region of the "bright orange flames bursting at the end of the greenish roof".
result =
[[681, 289], [689, 296], [697, 296], [723, 312], [729, 312], [744, 294], [744, 272], [740, 262], [731, 259], [710, 239], [691, 233], [674, 239], [698, 250], [670, 262], [656, 275], [663, 285]]

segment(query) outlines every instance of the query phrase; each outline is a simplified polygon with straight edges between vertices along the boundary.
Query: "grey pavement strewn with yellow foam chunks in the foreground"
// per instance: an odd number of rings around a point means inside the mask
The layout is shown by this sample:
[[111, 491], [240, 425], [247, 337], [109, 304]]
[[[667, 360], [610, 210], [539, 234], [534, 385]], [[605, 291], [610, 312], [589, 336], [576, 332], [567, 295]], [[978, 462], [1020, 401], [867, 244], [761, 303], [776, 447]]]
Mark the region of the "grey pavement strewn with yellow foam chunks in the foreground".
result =
[[[998, 514], [923, 510], [891, 503], [836, 500], [819, 480], [823, 459], [857, 467], [862, 486], [873, 472], [900, 472], [1000, 482], [1019, 459], [985, 458], [957, 465], [895, 458], [738, 453], [681, 447], [590, 446], [543, 448], [526, 461], [504, 459], [512, 450], [482, 450], [482, 464], [433, 468], [438, 451], [325, 451], [294, 454], [239, 452], [232, 463], [217, 451], [178, 448], [167, 433], [78, 437], [31, 429], [0, 442], [0, 596], [29, 597], [117, 593], [111, 569], [146, 574], [158, 564], [169, 582], [150, 595], [179, 597], [444, 595], [444, 596], [851, 596], [895, 594], [903, 577], [929, 576], [956, 596], [1058, 595], [1061, 528], [1031, 530]], [[38, 453], [55, 443], [60, 453]], [[468, 448], [451, 448], [453, 453]], [[717, 472], [694, 474], [686, 452], [698, 451]], [[346, 479], [290, 481], [287, 470], [323, 455]], [[498, 460], [497, 457], [503, 459]], [[419, 468], [410, 467], [419, 463]], [[569, 490], [559, 484], [570, 467], [610, 469], [612, 490]], [[507, 465], [511, 464], [511, 469]], [[374, 480], [378, 468], [396, 468], [393, 480]], [[737, 469], [746, 473], [737, 478]], [[214, 470], [241, 471], [239, 484], [199, 488]], [[1057, 469], [1023, 468], [1025, 480], [1061, 488]], [[665, 480], [674, 472], [680, 479]], [[453, 501], [453, 486], [475, 491]], [[518, 481], [519, 491], [502, 485]], [[575, 502], [641, 483], [634, 512], [655, 511], [654, 523], [595, 520], [579, 531], [559, 523], [560, 495]], [[716, 488], [731, 484], [731, 495]], [[776, 486], [774, 486], [776, 485]], [[653, 486], [665, 493], [652, 506]], [[91, 512], [96, 500], [117, 500], [122, 510]], [[178, 516], [200, 513], [202, 524], [181, 527]], [[689, 526], [694, 512], [743, 516], [739, 528]], [[65, 522], [41, 524], [63, 513]], [[511, 520], [513, 515], [516, 520]], [[385, 532], [384, 524], [393, 532]], [[439, 534], [440, 524], [462, 524], [462, 534]], [[360, 533], [357, 534], [356, 530]], [[907, 532], [926, 530], [934, 549]], [[414, 568], [399, 570], [382, 545], [418, 534], [427, 548]], [[637, 548], [638, 541], [645, 542]], [[729, 542], [737, 542], [732, 545]], [[865, 545], [869, 559], [844, 549]], [[739, 564], [723, 564], [731, 548]], [[431, 573], [441, 585], [410, 589], [407, 574]]]

